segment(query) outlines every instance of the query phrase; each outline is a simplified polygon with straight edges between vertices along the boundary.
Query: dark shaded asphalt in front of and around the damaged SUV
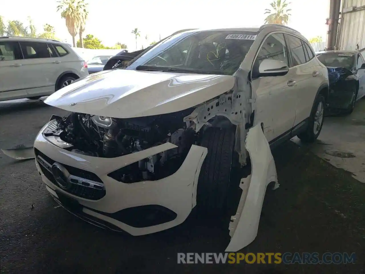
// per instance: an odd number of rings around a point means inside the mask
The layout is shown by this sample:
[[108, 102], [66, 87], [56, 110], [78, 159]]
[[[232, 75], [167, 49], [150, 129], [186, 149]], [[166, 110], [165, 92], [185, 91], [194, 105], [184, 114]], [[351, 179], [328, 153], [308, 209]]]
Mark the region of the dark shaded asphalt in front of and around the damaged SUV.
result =
[[[0, 148], [32, 145], [52, 114], [65, 113], [0, 102]], [[242, 252], [355, 252], [355, 264], [178, 265], [177, 252], [224, 251], [228, 223], [191, 216], [152, 235], [106, 231], [59, 207], [34, 160], [0, 152], [1, 273], [365, 273], [365, 184], [293, 142], [273, 154], [280, 187], [267, 191], [258, 235]]]

